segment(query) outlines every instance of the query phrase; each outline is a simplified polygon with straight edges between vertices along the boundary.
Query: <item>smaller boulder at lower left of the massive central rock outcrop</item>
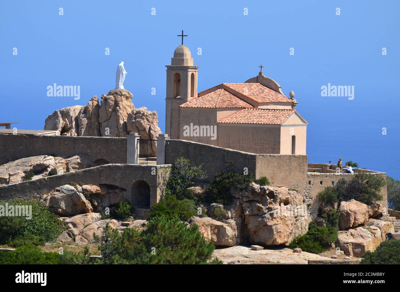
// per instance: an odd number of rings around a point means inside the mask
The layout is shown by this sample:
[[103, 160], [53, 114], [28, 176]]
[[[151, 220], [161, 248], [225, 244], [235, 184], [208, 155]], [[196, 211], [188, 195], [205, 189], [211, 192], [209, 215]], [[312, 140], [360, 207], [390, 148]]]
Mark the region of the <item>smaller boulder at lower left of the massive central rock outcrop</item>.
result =
[[201, 235], [214, 245], [226, 247], [236, 245], [236, 224], [232, 219], [221, 222], [210, 217], [193, 217], [193, 223], [198, 225]]

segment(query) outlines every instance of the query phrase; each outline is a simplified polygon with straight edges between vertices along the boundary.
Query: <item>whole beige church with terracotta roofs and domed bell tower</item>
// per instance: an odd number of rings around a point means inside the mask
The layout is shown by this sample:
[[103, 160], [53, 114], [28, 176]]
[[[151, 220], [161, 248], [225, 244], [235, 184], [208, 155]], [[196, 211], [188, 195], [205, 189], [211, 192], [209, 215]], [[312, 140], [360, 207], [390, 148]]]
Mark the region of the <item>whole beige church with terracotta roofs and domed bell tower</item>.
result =
[[166, 67], [166, 134], [172, 139], [256, 154], [306, 154], [307, 122], [296, 111], [294, 92], [286, 97], [262, 66], [244, 83], [200, 93], [188, 47], [178, 46]]

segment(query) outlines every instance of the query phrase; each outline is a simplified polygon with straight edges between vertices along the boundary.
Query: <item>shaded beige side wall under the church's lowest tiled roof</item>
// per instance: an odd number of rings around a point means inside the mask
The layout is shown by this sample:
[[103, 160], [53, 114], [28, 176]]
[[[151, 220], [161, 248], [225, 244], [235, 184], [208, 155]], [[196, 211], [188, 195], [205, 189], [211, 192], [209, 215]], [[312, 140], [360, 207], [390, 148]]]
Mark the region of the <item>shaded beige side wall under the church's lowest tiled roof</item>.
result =
[[218, 146], [256, 153], [280, 154], [280, 126], [219, 123]]

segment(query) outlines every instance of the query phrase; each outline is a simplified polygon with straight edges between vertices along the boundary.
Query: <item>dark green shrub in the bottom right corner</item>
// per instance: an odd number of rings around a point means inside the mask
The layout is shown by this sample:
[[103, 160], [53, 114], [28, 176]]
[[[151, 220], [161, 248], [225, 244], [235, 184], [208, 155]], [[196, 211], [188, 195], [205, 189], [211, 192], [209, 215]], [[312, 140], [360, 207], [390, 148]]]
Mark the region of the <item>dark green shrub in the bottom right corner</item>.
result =
[[361, 264], [400, 264], [400, 240], [383, 241], [374, 252], [366, 252]]

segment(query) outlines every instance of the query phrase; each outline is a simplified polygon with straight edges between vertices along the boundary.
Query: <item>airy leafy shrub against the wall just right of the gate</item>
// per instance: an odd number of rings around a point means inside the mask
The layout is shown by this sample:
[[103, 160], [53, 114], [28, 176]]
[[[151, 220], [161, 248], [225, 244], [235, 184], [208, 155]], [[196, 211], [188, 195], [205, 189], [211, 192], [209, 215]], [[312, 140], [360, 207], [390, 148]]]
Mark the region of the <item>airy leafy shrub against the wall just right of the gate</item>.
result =
[[172, 195], [176, 195], [178, 199], [188, 198], [185, 196], [185, 190], [194, 184], [194, 180], [201, 180], [207, 177], [207, 173], [202, 167], [203, 164], [190, 166], [188, 159], [178, 158], [171, 166], [167, 189]]

